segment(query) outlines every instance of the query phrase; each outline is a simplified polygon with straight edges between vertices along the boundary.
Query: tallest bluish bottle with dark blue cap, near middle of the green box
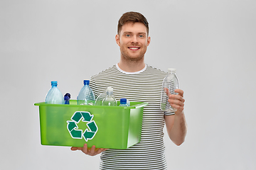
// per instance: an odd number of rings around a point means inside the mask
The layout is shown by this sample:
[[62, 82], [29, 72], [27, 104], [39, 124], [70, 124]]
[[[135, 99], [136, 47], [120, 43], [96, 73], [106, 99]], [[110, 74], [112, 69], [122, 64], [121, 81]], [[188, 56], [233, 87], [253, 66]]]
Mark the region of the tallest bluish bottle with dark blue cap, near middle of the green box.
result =
[[92, 89], [89, 86], [90, 80], [84, 80], [84, 86], [78, 94], [78, 105], [94, 105], [95, 96]]

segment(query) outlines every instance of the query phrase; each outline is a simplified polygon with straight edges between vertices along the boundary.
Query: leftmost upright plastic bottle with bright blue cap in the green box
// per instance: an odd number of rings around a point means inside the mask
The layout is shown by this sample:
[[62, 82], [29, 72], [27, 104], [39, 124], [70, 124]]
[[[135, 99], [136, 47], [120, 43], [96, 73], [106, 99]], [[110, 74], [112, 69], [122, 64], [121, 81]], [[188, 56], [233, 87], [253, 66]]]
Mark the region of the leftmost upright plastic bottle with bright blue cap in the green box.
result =
[[57, 87], [57, 81], [51, 81], [51, 89], [46, 94], [46, 103], [49, 104], [63, 104], [64, 98], [63, 94], [61, 94], [60, 90]]

